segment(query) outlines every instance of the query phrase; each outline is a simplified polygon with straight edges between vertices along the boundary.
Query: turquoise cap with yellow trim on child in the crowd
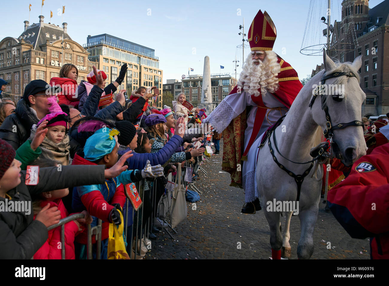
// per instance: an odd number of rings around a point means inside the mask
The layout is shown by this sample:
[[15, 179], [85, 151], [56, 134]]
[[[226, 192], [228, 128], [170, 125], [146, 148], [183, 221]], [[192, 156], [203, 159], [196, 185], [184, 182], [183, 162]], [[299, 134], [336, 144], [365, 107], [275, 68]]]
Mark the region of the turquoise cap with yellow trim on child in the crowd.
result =
[[119, 135], [117, 129], [103, 127], [86, 140], [84, 146], [84, 158], [96, 161], [112, 152], [116, 146], [115, 135]]

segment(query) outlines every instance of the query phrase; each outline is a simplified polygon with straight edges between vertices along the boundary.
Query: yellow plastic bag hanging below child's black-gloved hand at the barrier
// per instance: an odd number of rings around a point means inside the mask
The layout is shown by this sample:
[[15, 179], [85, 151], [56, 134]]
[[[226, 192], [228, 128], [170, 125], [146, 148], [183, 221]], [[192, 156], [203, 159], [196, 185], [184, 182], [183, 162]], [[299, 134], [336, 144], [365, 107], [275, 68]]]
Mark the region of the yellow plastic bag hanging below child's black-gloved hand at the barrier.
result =
[[124, 221], [123, 214], [120, 212], [121, 224], [109, 224], [108, 237], [108, 259], [130, 259], [126, 251], [126, 246], [123, 239]]

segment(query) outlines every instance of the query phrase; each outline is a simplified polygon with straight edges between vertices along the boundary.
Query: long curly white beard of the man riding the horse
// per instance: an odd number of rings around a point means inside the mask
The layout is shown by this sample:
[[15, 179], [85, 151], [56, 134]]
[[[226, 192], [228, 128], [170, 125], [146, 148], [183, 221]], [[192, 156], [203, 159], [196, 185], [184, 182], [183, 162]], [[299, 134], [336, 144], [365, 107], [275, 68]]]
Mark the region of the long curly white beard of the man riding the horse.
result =
[[[256, 65], [255, 61], [252, 60], [250, 53], [240, 72], [237, 86], [256, 97], [265, 95], [267, 91], [275, 92], [279, 88], [277, 75], [281, 69], [277, 63], [277, 54], [273, 51], [265, 51], [263, 62], [257, 60], [259, 65]], [[259, 88], [261, 92], [258, 91]]]

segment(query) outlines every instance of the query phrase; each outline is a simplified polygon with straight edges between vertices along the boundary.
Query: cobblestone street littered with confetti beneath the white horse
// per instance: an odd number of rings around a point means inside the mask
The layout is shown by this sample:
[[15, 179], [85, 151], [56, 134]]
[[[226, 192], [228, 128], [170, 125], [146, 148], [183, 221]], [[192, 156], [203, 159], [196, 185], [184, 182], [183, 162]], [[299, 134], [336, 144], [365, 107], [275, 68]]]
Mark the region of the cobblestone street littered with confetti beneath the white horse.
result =
[[[220, 142], [222, 148], [223, 144]], [[244, 204], [242, 189], [230, 187], [230, 174], [221, 171], [220, 155], [213, 155], [202, 165], [208, 172], [199, 170], [201, 200], [196, 205], [187, 203], [187, 219], [177, 227], [174, 239], [160, 232], [152, 241], [147, 259], [269, 259], [270, 231], [263, 211], [242, 214]], [[195, 207], [196, 206], [196, 207]], [[281, 218], [284, 230], [285, 216]], [[300, 220], [292, 216], [290, 227], [291, 259], [297, 259], [300, 237]], [[237, 246], [241, 243], [241, 249]], [[327, 249], [327, 242], [331, 249]], [[336, 221], [331, 212], [324, 211], [322, 199], [314, 231], [312, 259], [370, 259], [369, 240], [352, 239]]]

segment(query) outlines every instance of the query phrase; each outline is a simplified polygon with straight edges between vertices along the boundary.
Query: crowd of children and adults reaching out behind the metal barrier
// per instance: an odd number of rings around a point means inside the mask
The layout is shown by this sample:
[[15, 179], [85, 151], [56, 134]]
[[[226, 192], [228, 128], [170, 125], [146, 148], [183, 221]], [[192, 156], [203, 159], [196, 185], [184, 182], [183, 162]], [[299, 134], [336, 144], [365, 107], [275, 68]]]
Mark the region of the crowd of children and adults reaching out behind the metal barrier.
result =
[[[123, 65], [116, 81], [105, 87], [103, 71], [93, 67], [88, 81], [77, 84], [77, 68], [65, 64], [60, 77], [51, 78], [49, 85], [42, 80], [30, 82], [16, 106], [2, 102], [9, 106], [0, 114], [4, 121], [0, 126], [0, 205], [23, 202], [25, 208], [1, 209], [0, 258], [60, 259], [61, 227], [49, 231], [47, 227], [81, 213], [84, 218], [64, 225], [65, 258], [87, 258], [86, 225], [96, 226], [100, 219], [101, 247], [92, 236], [92, 253], [93, 258], [100, 253], [100, 258], [107, 259], [109, 225], [121, 225], [126, 209], [128, 226], [135, 225], [124, 186], [138, 181], [144, 181], [142, 226], [128, 227], [127, 242], [140, 236], [140, 244], [133, 246], [144, 256], [149, 239], [156, 239], [156, 229], [149, 228], [146, 236], [140, 229], [150, 218], [156, 227], [167, 226], [155, 216], [166, 176], [184, 161], [202, 156], [203, 146], [190, 145], [203, 141], [204, 129], [187, 129], [186, 107], [180, 107], [181, 114], [168, 108], [150, 109], [151, 89], [144, 87], [133, 92], [132, 104], [124, 110], [123, 92], [116, 100], [112, 94], [126, 69]], [[204, 110], [194, 111], [191, 122], [204, 117]], [[128, 246], [126, 250], [133, 254]]]

